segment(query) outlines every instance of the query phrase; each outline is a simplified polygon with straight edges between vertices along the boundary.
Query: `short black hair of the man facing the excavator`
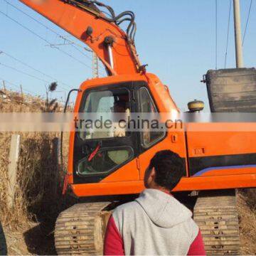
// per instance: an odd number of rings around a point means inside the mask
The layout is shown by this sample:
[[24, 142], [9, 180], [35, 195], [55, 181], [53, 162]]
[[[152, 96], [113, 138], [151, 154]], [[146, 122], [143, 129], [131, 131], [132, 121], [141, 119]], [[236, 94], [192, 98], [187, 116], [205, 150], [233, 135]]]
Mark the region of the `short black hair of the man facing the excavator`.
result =
[[156, 153], [149, 164], [149, 170], [153, 168], [156, 171], [156, 184], [169, 191], [177, 186], [185, 171], [183, 159], [171, 150]]

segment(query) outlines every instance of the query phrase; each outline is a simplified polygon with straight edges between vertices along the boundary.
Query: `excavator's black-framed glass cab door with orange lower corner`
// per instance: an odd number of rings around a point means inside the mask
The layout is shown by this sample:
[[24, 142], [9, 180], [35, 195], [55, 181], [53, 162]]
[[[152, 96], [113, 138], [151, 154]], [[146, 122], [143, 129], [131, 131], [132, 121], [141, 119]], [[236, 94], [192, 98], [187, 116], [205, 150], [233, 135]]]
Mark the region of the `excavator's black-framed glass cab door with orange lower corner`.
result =
[[[100, 120], [103, 122], [103, 129], [93, 125], [76, 132], [74, 183], [139, 180], [137, 132], [127, 132], [118, 126], [113, 129], [116, 119], [122, 119], [122, 115], [125, 119], [129, 113], [135, 112], [133, 89], [133, 82], [126, 82], [85, 90], [80, 113], [83, 117], [97, 115], [98, 124]], [[115, 111], [119, 112], [117, 116]], [[105, 115], [111, 117], [112, 126], [107, 122], [105, 127]]]

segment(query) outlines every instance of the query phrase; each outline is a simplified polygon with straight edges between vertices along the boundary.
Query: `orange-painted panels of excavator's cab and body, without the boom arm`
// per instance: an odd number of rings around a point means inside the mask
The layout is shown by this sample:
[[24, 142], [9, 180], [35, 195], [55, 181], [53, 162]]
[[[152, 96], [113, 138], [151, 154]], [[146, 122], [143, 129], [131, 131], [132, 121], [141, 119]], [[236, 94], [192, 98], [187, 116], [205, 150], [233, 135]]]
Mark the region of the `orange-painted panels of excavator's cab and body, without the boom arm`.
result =
[[[102, 87], [104, 85], [113, 85], [119, 82], [129, 81], [147, 81], [149, 82], [149, 90], [151, 97], [156, 102], [160, 112], [166, 113], [177, 110], [175, 103], [164, 89], [164, 85], [159, 82], [155, 75], [119, 75], [108, 78], [100, 78], [95, 80], [87, 80], [82, 83], [80, 89], [82, 91]], [[75, 111], [80, 106], [82, 92], [78, 95], [75, 105]], [[164, 100], [162, 97], [164, 95]], [[166, 118], [163, 114], [163, 119]], [[144, 172], [149, 165], [151, 157], [157, 151], [170, 149], [178, 153], [181, 157], [187, 159], [187, 151], [189, 157], [199, 156], [222, 156], [229, 154], [249, 154], [256, 152], [256, 136], [255, 132], [221, 132], [221, 127], [226, 125], [226, 129], [231, 129], [233, 124], [183, 124], [183, 129], [178, 131], [170, 130], [166, 137], [158, 144], [151, 147], [139, 155], [139, 158], [129, 162], [122, 168], [115, 171], [100, 183], [74, 184], [74, 193], [77, 196], [107, 196], [122, 195], [130, 193], [140, 193], [143, 186]], [[245, 124], [238, 124], [238, 126]], [[252, 124], [252, 128], [253, 128]], [[216, 132], [215, 132], [216, 130]], [[187, 145], [186, 147], [186, 137]], [[196, 132], [195, 132], [196, 131]], [[177, 141], [174, 143], [172, 136], [176, 135]], [[239, 145], [239, 146], [238, 146]], [[70, 137], [70, 159], [73, 157], [73, 136]], [[137, 161], [139, 167], [137, 166]], [[211, 167], [211, 166], [209, 166]], [[139, 168], [139, 169], [138, 169]], [[73, 161], [70, 161], [69, 172], [73, 173]], [[186, 168], [186, 178], [183, 178], [178, 184], [175, 191], [193, 191], [193, 190], [210, 190], [224, 188], [241, 188], [256, 186], [256, 169], [223, 169], [211, 170], [201, 177], [189, 177], [188, 164]]]

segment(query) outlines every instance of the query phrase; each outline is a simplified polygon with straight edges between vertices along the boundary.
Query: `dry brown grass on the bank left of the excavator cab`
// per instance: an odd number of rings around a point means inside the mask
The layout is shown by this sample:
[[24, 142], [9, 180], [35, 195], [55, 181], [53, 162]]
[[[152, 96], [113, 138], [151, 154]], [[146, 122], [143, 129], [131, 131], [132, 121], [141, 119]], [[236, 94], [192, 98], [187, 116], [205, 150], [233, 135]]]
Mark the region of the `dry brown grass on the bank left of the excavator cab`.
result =
[[[0, 93], [0, 96], [0, 112], [50, 111], [49, 104], [47, 105], [41, 97], [18, 95], [16, 92], [6, 92], [4, 97]], [[62, 106], [56, 107], [56, 103], [53, 103], [54, 111], [63, 110]], [[61, 194], [65, 174], [60, 169], [58, 156], [53, 149], [53, 139], [60, 138], [60, 134], [19, 134], [21, 151], [18, 159], [15, 206], [10, 210], [6, 207], [6, 186], [11, 133], [0, 133], [0, 220], [3, 225], [17, 230], [35, 220], [55, 220], [60, 209], [65, 207], [65, 198]], [[65, 137], [65, 142], [68, 142], [68, 137]], [[64, 153], [67, 155], [67, 150], [64, 150]]]

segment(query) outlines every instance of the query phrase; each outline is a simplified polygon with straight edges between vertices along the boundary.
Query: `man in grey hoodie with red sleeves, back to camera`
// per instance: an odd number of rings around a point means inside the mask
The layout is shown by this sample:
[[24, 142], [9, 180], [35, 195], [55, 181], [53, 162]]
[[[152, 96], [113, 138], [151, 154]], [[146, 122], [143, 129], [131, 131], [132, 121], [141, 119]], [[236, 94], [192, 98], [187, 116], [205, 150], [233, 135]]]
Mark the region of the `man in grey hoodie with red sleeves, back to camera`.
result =
[[104, 255], [206, 255], [191, 211], [171, 196], [183, 169], [178, 154], [156, 153], [144, 176], [146, 190], [110, 217]]

